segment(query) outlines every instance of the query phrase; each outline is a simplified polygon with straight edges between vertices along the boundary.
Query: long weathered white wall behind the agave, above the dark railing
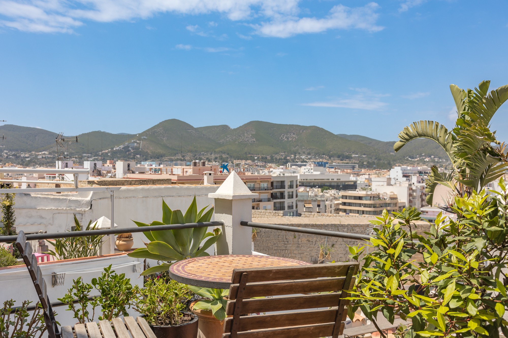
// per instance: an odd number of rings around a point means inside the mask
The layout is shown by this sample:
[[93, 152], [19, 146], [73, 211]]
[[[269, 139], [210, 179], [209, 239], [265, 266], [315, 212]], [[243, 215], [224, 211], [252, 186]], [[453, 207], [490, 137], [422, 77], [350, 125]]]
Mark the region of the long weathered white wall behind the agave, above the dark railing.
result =
[[[160, 185], [127, 186], [115, 191], [114, 222], [118, 229], [136, 226], [134, 221], [150, 223], [162, 220], [162, 200], [171, 209], [183, 213], [194, 196], [198, 208], [212, 206], [208, 197], [219, 186], [216, 185]], [[78, 193], [17, 193], [16, 228], [26, 233], [62, 232], [74, 225], [74, 214], [80, 222], [96, 221], [102, 216], [110, 218], [111, 198], [108, 191]], [[212, 216], [213, 220], [213, 216]], [[142, 247], [146, 238], [142, 233], [134, 234], [134, 247]]]

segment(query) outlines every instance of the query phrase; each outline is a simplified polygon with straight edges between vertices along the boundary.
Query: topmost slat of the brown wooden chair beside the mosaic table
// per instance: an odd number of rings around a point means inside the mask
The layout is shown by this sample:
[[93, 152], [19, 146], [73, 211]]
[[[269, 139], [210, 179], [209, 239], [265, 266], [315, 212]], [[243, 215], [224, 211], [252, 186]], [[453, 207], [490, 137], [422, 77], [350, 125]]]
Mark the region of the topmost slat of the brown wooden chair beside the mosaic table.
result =
[[354, 273], [356, 274], [358, 272], [358, 264], [350, 262], [234, 269], [231, 280], [232, 284], [238, 284], [240, 276], [244, 272], [249, 274], [249, 283], [293, 280], [295, 276], [298, 276], [299, 279], [338, 277], [345, 276], [350, 266], [355, 266]]

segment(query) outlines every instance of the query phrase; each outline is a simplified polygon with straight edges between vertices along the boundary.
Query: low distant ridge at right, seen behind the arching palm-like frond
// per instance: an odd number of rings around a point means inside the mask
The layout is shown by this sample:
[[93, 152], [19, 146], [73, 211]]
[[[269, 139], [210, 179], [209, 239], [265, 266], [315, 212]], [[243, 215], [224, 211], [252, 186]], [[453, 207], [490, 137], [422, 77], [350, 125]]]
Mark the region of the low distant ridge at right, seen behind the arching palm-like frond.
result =
[[[357, 141], [360, 143], [363, 143], [369, 147], [373, 147], [375, 149], [378, 149], [379, 151], [383, 153], [394, 153], [393, 145], [397, 141], [379, 141], [375, 139], [371, 139], [365, 136], [361, 135], [347, 135], [347, 134], [337, 134], [338, 136], [352, 140]], [[438, 158], [448, 158], [447, 154], [444, 152], [444, 150], [434, 141], [428, 140], [428, 139], [418, 139], [409, 142], [406, 144], [401, 150], [399, 150], [396, 153], [396, 156], [398, 158], [415, 158], [421, 155], [434, 155]]]

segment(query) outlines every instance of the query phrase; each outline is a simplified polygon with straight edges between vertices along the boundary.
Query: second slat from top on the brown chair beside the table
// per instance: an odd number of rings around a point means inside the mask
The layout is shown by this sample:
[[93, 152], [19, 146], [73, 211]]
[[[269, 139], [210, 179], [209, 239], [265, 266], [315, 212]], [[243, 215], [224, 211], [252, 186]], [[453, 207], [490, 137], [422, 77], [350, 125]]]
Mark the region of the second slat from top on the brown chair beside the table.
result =
[[[326, 279], [306, 279], [293, 281], [275, 281], [261, 283], [247, 283], [244, 298], [275, 296], [295, 293], [313, 293], [326, 291], [340, 291], [344, 285], [345, 277]], [[231, 284], [229, 288], [230, 299], [234, 300], [238, 292], [238, 284]]]

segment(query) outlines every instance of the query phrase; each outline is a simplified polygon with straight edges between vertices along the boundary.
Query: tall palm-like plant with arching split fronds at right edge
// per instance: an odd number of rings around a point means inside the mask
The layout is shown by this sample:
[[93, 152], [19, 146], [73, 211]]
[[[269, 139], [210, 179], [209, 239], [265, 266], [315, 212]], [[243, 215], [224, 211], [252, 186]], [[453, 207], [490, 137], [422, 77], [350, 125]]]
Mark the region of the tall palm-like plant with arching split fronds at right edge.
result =
[[432, 166], [425, 189], [429, 205], [439, 184], [457, 195], [470, 196], [473, 190], [481, 191], [508, 168], [505, 145], [490, 130], [492, 117], [508, 99], [508, 85], [488, 92], [489, 85], [490, 81], [483, 81], [474, 90], [450, 85], [458, 115], [452, 130], [434, 121], [418, 121], [399, 133], [400, 141], [393, 146], [395, 151], [412, 140], [426, 138], [439, 144], [452, 161], [449, 172], [441, 173]]

